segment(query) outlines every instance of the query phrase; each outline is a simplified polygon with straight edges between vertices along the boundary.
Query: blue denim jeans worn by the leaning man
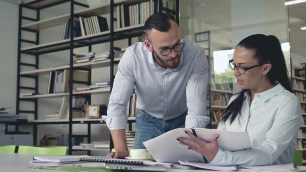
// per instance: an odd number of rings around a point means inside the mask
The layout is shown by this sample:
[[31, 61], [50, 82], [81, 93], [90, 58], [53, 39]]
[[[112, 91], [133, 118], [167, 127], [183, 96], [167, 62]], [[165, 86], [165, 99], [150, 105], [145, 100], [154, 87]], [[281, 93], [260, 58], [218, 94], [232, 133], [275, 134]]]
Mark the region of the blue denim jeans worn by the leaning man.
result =
[[163, 119], [152, 117], [148, 113], [137, 109], [134, 148], [145, 149], [143, 145], [144, 141], [176, 128], [185, 128], [186, 115], [187, 112], [177, 118], [164, 121]]

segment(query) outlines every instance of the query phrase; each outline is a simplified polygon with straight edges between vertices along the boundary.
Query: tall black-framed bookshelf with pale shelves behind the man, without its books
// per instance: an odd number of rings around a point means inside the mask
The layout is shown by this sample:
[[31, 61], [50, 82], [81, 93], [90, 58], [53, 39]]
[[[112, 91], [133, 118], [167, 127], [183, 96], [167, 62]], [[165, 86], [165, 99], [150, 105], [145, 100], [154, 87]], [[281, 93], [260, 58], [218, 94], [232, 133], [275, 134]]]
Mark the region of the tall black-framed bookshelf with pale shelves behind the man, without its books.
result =
[[[61, 6], [65, 3], [69, 3], [70, 9], [69, 13], [59, 15], [56, 17], [51, 17], [48, 19], [40, 20], [40, 13], [42, 10]], [[68, 125], [68, 154], [72, 154], [72, 150], [81, 150], [80, 148], [73, 147], [72, 145], [72, 124], [85, 124], [88, 126], [87, 132], [87, 141], [91, 142], [91, 124], [105, 124], [105, 121], [101, 118], [98, 119], [86, 119], [86, 118], [72, 118], [72, 110], [76, 110], [78, 108], [72, 108], [72, 97], [86, 97], [88, 99], [88, 104], [91, 104], [91, 96], [94, 94], [110, 94], [113, 85], [114, 79], [114, 66], [119, 63], [120, 56], [115, 57], [114, 52], [114, 41], [118, 40], [127, 40], [128, 45], [131, 45], [131, 40], [133, 37], [140, 37], [143, 35], [144, 26], [143, 23], [133, 24], [131, 26], [122, 26], [117, 27], [115, 29], [114, 24], [118, 22], [120, 19], [116, 19], [114, 15], [116, 13], [116, 7], [120, 7], [123, 5], [127, 6], [139, 6], [141, 3], [151, 3], [154, 4], [155, 7], [150, 8], [153, 12], [159, 11], [159, 7], [162, 3], [162, 0], [111, 0], [107, 4], [103, 4], [98, 7], [89, 7], [88, 5], [76, 2], [74, 0], [33, 0], [24, 4], [21, 4], [19, 7], [19, 29], [18, 29], [18, 67], [17, 67], [17, 101], [16, 101], [16, 114], [19, 113], [27, 113], [29, 115], [34, 116], [34, 120], [29, 120], [28, 122], [10, 122], [10, 125], [16, 125], [16, 132], [19, 132], [19, 125], [32, 125], [33, 126], [33, 143], [37, 144], [37, 130], [38, 125], [47, 125], [47, 124], [67, 124]], [[176, 11], [172, 11], [171, 13], [179, 14], [179, 1], [176, 0], [177, 9]], [[74, 10], [76, 6], [82, 7], [81, 10]], [[27, 17], [23, 14], [23, 9], [27, 9], [32, 11], [35, 18]], [[151, 11], [152, 12], [152, 11]], [[152, 13], [153, 13], [152, 12]], [[27, 13], [28, 14], [28, 13]], [[83, 36], [74, 37], [70, 36], [68, 39], [52, 41], [40, 44], [40, 31], [44, 29], [53, 28], [55, 26], [64, 25], [66, 21], [68, 21], [69, 27], [67, 32], [70, 35], [73, 35], [74, 32], [77, 32], [75, 29], [74, 20], [75, 17], [90, 17], [90, 16], [101, 16], [101, 15], [109, 15], [107, 18], [109, 20], [109, 29], [103, 32], [96, 32], [94, 34], [85, 34]], [[147, 16], [148, 17], [148, 16]], [[122, 18], [120, 16], [120, 18]], [[140, 18], [140, 17], [139, 17]], [[176, 19], [179, 19], [179, 15], [176, 15]], [[122, 20], [122, 19], [121, 19]], [[26, 23], [24, 21], [30, 21], [30, 23]], [[74, 26], [74, 27], [73, 27]], [[34, 39], [27, 40], [23, 39], [24, 33], [34, 34]], [[33, 41], [34, 40], [34, 41]], [[24, 43], [27, 43], [27, 46], [23, 46]], [[101, 43], [109, 43], [110, 55], [109, 59], [102, 61], [89, 61], [84, 63], [73, 63], [73, 49], [80, 47], [88, 47], [88, 52], [92, 52], [92, 46], [101, 44]], [[68, 50], [69, 51], [69, 64], [62, 64], [60, 66], [48, 67], [48, 68], [40, 68], [40, 55], [53, 53], [58, 51]], [[33, 56], [35, 58], [34, 62], [26, 63], [23, 62], [24, 55]], [[24, 67], [30, 68], [24, 70]], [[88, 72], [88, 80], [82, 81], [82, 84], [90, 85], [92, 80], [92, 69], [95, 68], [103, 68], [109, 67], [109, 78], [110, 85], [107, 88], [100, 88], [96, 90], [87, 90], [81, 92], [74, 92], [72, 90], [73, 83], [80, 83], [74, 79], [73, 73], [75, 70], [83, 70]], [[41, 75], [50, 74], [50, 72], [59, 71], [59, 70], [67, 70], [69, 72], [69, 89], [64, 93], [50, 93], [50, 94], [39, 94], [38, 85], [41, 82], [39, 77]], [[51, 77], [51, 76], [50, 76]], [[33, 79], [34, 83], [31, 85], [22, 85], [21, 79]], [[21, 96], [22, 91], [31, 91], [34, 95], [31, 96]], [[49, 93], [49, 92], [48, 92]], [[49, 100], [51, 98], [67, 98], [69, 102], [69, 114], [68, 119], [40, 119], [38, 113], [38, 100], [46, 99]], [[23, 110], [21, 109], [23, 103], [30, 102], [34, 106], [33, 110]], [[78, 109], [81, 110], [80, 108]], [[131, 123], [135, 122], [135, 117], [129, 117], [128, 124], [129, 128]], [[108, 133], [109, 134], [109, 133]], [[110, 136], [110, 134], [109, 134]], [[110, 145], [108, 149], [113, 147], [112, 138], [110, 136]], [[88, 150], [88, 154], [90, 154], [90, 150], [96, 149], [82, 149]]]

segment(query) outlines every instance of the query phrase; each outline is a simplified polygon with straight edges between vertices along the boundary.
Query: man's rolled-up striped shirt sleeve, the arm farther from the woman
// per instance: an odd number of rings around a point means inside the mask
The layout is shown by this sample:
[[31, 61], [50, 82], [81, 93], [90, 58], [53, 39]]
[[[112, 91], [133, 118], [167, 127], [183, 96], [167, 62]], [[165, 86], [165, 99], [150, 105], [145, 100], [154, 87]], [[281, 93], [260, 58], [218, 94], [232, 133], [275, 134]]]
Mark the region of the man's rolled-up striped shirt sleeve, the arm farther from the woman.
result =
[[133, 52], [128, 48], [123, 54], [116, 73], [112, 93], [109, 98], [107, 116], [104, 120], [110, 130], [126, 128], [128, 117], [126, 105], [135, 87]]

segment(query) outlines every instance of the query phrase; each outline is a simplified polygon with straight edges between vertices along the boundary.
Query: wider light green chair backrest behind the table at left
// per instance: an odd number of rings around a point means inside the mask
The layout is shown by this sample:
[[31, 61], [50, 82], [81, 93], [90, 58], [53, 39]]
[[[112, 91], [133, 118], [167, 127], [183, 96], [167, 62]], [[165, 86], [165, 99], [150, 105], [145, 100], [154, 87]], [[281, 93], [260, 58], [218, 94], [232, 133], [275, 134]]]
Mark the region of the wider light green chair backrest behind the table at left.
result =
[[18, 153], [28, 153], [28, 154], [65, 155], [66, 152], [67, 152], [66, 146], [56, 146], [56, 147], [19, 146], [18, 148]]

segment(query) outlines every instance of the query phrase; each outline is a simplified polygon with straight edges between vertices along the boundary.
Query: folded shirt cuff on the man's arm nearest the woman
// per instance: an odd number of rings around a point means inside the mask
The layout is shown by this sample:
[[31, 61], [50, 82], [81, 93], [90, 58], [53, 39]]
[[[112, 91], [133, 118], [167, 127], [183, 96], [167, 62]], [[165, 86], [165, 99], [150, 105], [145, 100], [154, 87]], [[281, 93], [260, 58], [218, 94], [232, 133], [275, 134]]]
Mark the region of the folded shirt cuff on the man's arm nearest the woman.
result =
[[187, 115], [185, 121], [185, 128], [205, 128], [210, 122], [207, 116]]

